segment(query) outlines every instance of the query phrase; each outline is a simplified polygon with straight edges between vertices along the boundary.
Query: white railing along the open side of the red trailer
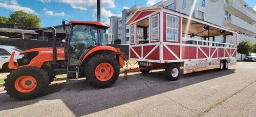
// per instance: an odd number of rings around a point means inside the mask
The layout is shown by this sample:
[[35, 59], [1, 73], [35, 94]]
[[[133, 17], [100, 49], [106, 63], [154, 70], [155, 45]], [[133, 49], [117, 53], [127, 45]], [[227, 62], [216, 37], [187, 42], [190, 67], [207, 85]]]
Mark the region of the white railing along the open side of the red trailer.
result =
[[[216, 46], [216, 47], [226, 47], [226, 48], [233, 48], [234, 44], [231, 43], [224, 43], [224, 42], [215, 42], [215, 41], [207, 41], [207, 40], [199, 40], [199, 39], [192, 39], [192, 38], [185, 38], [182, 37], [182, 41], [186, 40], [186, 41], [195, 41], [196, 43], [194, 45], [199, 45], [202, 46], [204, 44], [202, 43], [207, 43], [205, 44], [205, 46]], [[199, 44], [200, 42], [200, 44]], [[209, 44], [208, 44], [209, 43]], [[191, 44], [193, 45], [193, 44]]]

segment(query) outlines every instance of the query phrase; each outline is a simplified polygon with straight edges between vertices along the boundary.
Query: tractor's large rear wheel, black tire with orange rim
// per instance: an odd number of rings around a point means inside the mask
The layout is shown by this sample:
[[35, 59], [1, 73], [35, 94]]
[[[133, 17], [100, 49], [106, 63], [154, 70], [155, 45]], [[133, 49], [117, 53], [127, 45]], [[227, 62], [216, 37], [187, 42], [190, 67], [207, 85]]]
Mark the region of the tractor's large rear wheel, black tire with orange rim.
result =
[[112, 56], [96, 55], [91, 58], [85, 67], [87, 81], [96, 88], [106, 88], [113, 85], [118, 79], [119, 63]]

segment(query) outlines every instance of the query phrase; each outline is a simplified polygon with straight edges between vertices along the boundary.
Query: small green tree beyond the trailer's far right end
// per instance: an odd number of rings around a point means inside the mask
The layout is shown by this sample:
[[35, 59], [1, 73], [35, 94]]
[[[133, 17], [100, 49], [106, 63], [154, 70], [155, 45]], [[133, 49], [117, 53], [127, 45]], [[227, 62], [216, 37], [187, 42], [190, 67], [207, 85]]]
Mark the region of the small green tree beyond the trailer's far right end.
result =
[[241, 54], [241, 60], [243, 54], [248, 55], [253, 51], [253, 44], [251, 43], [250, 40], [243, 40], [242, 42], [239, 43], [238, 45], [238, 53]]

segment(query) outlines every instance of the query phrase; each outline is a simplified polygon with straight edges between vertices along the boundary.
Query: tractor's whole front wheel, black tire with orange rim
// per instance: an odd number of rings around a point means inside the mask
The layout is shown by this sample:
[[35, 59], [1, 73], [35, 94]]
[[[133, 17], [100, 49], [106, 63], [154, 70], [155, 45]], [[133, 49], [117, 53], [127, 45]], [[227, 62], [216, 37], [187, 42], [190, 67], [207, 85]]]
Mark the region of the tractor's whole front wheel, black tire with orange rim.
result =
[[40, 97], [48, 85], [48, 73], [34, 66], [17, 68], [7, 76], [4, 84], [6, 93], [18, 100]]

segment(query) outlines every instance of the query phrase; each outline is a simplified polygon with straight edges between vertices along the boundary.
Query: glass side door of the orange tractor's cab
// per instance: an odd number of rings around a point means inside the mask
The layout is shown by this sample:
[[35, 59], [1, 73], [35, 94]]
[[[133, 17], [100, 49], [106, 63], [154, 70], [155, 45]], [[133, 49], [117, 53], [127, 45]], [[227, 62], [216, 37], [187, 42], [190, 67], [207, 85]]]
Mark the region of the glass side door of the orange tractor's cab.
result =
[[92, 26], [74, 25], [69, 41], [70, 65], [79, 65], [83, 56], [99, 44], [97, 29]]

